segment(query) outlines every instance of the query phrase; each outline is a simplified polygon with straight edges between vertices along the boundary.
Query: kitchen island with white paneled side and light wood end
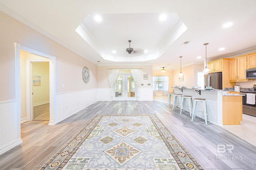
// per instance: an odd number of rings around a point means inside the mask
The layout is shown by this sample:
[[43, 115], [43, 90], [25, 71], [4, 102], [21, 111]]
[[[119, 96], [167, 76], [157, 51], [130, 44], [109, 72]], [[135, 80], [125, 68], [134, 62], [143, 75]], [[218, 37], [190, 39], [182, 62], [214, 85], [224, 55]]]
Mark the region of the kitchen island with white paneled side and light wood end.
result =
[[[188, 96], [192, 96], [192, 98], [206, 99], [208, 121], [210, 123], [213, 123], [214, 125], [227, 125], [226, 124], [227, 122], [232, 125], [236, 125], [234, 121], [231, 121], [231, 122], [226, 121], [227, 119], [229, 119], [229, 117], [230, 119], [232, 117], [236, 117], [235, 122], [239, 122], [239, 124], [240, 124], [240, 121], [242, 121], [242, 96], [243, 96], [242, 94], [232, 94], [232, 93], [228, 93], [227, 91], [217, 90], [217, 89], [208, 90], [204, 88], [182, 88], [182, 87], [172, 87], [172, 88], [174, 88], [174, 92], [176, 94], [188, 95]], [[234, 100], [234, 98], [236, 102], [232, 103], [232, 100]], [[241, 109], [232, 109], [232, 107], [237, 107], [237, 106], [240, 106]], [[185, 110], [188, 111], [188, 109], [185, 109]], [[197, 111], [202, 111], [201, 103], [198, 104]], [[203, 115], [196, 115], [196, 116], [204, 119]]]

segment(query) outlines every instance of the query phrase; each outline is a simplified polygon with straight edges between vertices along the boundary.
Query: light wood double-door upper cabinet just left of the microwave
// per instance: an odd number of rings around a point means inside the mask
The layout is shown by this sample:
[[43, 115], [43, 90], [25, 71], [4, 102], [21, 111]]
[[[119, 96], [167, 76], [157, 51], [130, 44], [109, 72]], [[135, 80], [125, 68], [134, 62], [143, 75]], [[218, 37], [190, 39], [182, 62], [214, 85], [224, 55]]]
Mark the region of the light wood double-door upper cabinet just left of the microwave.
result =
[[229, 60], [229, 80], [230, 82], [242, 82], [246, 79], [246, 55]]

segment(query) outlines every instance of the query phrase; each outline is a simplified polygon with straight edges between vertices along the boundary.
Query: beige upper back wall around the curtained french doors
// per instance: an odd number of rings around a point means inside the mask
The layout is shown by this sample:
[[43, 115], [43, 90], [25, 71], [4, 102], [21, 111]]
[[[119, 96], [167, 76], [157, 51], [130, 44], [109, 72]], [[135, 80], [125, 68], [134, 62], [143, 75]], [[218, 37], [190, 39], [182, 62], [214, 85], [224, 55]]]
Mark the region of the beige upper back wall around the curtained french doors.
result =
[[[108, 68], [142, 68], [142, 74], [148, 74], [148, 79], [144, 80], [143, 76], [140, 80], [139, 88], [152, 88], [152, 65], [144, 66], [98, 66], [98, 88], [110, 88], [108, 83]], [[148, 85], [150, 84], [150, 85]]]

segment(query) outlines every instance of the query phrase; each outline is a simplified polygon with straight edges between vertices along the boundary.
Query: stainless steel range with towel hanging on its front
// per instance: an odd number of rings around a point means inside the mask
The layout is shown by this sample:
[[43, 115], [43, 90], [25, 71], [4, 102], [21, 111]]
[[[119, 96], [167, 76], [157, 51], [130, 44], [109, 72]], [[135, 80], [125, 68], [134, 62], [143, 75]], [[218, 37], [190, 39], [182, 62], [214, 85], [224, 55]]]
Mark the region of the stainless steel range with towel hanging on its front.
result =
[[256, 97], [256, 84], [253, 86], [254, 91], [240, 91], [241, 94], [245, 94], [243, 96], [243, 113], [247, 115], [256, 116], [256, 104], [248, 104], [247, 103], [247, 94], [252, 93]]

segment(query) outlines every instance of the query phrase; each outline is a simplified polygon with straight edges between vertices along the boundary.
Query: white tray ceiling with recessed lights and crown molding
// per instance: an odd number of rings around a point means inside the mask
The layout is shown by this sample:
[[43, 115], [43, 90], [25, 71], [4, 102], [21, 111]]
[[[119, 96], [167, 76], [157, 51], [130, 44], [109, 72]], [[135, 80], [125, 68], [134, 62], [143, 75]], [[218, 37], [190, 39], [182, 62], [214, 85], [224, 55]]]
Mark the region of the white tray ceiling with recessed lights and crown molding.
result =
[[[173, 70], [180, 56], [182, 66], [204, 63], [204, 43], [207, 61], [256, 51], [256, 0], [0, 0], [0, 10], [97, 65]], [[227, 22], [233, 25], [223, 28]]]

